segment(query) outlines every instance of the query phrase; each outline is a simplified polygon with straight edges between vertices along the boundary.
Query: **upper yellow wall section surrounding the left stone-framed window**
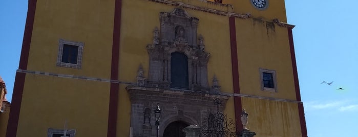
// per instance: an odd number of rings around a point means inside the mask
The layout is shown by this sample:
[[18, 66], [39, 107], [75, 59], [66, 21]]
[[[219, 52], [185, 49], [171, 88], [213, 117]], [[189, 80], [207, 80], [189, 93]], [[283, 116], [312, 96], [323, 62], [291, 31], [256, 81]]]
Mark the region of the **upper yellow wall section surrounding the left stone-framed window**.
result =
[[[110, 78], [114, 0], [38, 0], [28, 70]], [[84, 42], [82, 69], [57, 67], [59, 39]]]

